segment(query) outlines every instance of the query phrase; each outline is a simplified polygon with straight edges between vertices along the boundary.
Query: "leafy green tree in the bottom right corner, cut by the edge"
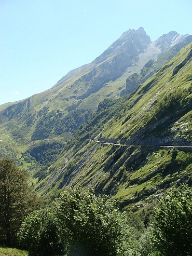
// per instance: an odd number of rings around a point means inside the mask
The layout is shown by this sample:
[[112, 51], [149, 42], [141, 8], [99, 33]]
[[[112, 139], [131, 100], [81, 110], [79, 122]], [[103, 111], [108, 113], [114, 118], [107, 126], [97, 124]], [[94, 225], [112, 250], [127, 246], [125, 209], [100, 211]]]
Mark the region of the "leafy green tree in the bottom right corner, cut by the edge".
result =
[[192, 191], [187, 185], [159, 200], [154, 219], [156, 247], [163, 255], [192, 254]]

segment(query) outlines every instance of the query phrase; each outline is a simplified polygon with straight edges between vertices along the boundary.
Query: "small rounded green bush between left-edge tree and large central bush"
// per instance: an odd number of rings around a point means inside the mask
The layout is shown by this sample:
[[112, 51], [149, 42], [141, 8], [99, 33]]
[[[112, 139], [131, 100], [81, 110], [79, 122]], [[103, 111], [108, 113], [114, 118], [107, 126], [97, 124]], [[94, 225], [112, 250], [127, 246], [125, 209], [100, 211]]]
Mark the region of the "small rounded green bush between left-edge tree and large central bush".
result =
[[63, 247], [57, 233], [57, 220], [48, 210], [30, 213], [22, 222], [18, 238], [29, 256], [62, 255]]

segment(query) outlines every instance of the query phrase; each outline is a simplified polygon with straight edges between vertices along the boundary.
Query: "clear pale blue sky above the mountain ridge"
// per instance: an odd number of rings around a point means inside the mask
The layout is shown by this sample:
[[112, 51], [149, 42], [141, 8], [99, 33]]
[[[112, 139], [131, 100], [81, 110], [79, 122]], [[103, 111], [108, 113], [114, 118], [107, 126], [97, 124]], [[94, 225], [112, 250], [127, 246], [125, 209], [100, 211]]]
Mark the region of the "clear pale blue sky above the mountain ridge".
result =
[[191, 0], [0, 0], [0, 104], [51, 88], [128, 29], [192, 35]]

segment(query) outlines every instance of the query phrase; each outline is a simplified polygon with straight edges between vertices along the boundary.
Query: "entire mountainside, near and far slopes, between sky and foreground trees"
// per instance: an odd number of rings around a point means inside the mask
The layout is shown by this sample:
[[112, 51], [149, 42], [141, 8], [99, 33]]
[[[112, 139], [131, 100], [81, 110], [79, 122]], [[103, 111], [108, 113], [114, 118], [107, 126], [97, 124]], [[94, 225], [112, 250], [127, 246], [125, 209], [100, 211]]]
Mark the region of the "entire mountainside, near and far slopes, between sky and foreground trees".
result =
[[138, 209], [191, 185], [192, 36], [128, 30], [51, 89], [0, 106], [1, 157], [48, 202], [64, 186]]

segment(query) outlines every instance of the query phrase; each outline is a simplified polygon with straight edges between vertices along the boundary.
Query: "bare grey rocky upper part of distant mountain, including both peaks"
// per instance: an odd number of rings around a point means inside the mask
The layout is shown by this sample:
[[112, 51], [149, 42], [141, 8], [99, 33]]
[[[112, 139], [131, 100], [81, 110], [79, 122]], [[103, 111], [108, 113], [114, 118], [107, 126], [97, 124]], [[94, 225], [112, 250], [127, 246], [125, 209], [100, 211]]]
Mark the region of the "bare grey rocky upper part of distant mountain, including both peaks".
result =
[[[85, 99], [92, 93], [99, 91], [110, 80], [114, 81], [121, 76], [129, 76], [135, 70], [141, 70], [147, 61], [157, 60], [158, 56], [169, 50], [176, 43], [181, 42], [187, 35], [180, 35], [175, 31], [164, 34], [155, 42], [141, 27], [138, 30], [128, 30], [123, 33], [111, 46], [109, 46], [98, 58], [90, 64], [75, 69], [64, 76], [54, 86], [62, 84], [74, 74], [84, 70], [85, 74], [80, 76], [72, 86], [76, 88], [77, 99]], [[88, 71], [86, 71], [88, 69]], [[155, 70], [157, 71], [157, 69]], [[151, 72], [142, 82], [155, 71]], [[138, 86], [141, 81], [138, 80]], [[135, 86], [130, 85], [131, 90]], [[130, 92], [126, 89], [126, 92]], [[123, 93], [121, 93], [122, 95]]]

